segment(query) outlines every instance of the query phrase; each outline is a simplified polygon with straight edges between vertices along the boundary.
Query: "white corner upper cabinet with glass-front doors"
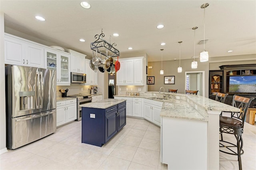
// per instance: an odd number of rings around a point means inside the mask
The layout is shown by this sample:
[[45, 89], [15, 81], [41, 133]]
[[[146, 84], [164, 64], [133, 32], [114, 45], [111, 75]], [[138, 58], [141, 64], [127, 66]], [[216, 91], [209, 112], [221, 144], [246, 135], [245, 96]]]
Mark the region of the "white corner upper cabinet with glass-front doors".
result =
[[54, 49], [46, 49], [46, 68], [56, 70], [57, 85], [70, 85], [70, 54]]

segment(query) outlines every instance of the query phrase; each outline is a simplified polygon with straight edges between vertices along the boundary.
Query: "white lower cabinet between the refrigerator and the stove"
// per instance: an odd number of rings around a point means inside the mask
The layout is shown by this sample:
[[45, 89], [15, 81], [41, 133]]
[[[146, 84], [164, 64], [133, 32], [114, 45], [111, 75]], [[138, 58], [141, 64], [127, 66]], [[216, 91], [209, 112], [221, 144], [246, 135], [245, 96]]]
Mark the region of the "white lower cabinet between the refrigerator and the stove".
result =
[[76, 99], [62, 100], [57, 102], [56, 126], [71, 122], [77, 116]]

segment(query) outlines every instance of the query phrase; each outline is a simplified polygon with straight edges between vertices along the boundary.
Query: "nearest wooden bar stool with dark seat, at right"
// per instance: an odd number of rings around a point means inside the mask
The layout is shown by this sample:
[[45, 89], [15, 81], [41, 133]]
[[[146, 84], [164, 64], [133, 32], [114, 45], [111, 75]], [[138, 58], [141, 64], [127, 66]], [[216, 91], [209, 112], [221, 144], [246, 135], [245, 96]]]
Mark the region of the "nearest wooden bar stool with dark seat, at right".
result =
[[[220, 115], [220, 152], [237, 155], [239, 170], [242, 170], [241, 155], [244, 154], [242, 134], [244, 132], [244, 118], [250, 103], [254, 98], [242, 96], [233, 96], [232, 106], [240, 108], [240, 112], [222, 112]], [[229, 113], [229, 117], [223, 116], [223, 113]], [[236, 144], [223, 140], [222, 133], [233, 134], [236, 138]], [[234, 149], [235, 148], [235, 149]]]

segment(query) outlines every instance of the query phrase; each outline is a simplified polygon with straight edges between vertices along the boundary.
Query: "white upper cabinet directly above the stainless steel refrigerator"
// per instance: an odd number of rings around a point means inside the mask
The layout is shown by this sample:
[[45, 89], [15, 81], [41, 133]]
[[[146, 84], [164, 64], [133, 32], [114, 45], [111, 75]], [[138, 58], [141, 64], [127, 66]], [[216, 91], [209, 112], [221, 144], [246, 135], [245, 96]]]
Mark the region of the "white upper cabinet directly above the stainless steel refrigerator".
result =
[[44, 46], [5, 33], [5, 64], [44, 68]]

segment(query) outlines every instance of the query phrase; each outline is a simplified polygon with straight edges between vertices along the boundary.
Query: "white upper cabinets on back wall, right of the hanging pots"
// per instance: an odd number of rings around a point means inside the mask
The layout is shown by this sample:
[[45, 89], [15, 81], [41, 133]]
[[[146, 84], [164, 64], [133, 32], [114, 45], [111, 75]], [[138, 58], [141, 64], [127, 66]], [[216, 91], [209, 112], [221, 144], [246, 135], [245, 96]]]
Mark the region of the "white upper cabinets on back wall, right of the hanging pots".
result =
[[119, 59], [120, 70], [116, 73], [116, 85], [143, 86], [146, 78], [144, 57]]

